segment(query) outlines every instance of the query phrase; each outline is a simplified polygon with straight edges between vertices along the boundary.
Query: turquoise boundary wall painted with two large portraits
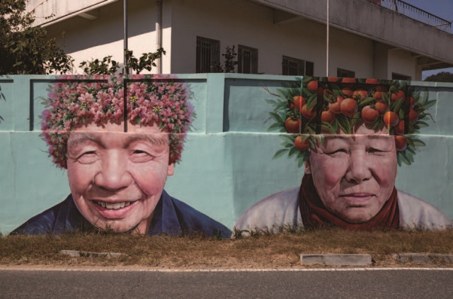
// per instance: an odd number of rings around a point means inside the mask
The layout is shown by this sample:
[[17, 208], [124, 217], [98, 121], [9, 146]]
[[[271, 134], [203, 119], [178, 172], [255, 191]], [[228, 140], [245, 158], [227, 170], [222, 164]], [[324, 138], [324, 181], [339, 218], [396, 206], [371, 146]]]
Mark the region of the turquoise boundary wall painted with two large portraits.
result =
[[0, 77], [0, 232], [443, 229], [452, 96], [376, 79]]

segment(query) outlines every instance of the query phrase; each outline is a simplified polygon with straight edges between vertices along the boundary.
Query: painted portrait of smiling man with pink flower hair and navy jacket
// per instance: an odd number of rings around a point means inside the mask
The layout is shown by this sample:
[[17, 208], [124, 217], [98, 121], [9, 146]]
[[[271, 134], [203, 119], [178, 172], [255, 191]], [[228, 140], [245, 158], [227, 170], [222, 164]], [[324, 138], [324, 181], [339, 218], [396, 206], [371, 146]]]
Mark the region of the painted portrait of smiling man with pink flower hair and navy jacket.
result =
[[13, 234], [97, 227], [144, 235], [231, 235], [164, 190], [192, 120], [185, 84], [153, 77], [130, 82], [125, 92], [120, 77], [108, 83], [62, 79], [42, 113], [42, 132], [55, 164], [67, 169], [71, 194]]

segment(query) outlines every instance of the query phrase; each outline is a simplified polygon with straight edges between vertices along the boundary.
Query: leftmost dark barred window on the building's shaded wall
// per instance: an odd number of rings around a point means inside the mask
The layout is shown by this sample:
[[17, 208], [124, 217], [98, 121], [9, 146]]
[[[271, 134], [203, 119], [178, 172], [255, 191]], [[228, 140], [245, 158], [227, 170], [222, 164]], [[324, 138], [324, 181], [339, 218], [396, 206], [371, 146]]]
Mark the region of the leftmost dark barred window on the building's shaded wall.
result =
[[197, 73], [210, 73], [220, 62], [220, 41], [197, 36]]

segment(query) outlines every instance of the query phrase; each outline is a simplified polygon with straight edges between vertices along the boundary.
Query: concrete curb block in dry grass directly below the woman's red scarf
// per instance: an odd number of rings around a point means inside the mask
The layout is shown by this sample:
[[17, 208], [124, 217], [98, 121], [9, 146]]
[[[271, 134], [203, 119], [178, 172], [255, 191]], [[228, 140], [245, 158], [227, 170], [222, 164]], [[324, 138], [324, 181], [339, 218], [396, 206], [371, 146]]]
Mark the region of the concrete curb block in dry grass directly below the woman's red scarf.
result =
[[369, 266], [369, 254], [301, 254], [302, 265], [321, 264], [326, 266]]

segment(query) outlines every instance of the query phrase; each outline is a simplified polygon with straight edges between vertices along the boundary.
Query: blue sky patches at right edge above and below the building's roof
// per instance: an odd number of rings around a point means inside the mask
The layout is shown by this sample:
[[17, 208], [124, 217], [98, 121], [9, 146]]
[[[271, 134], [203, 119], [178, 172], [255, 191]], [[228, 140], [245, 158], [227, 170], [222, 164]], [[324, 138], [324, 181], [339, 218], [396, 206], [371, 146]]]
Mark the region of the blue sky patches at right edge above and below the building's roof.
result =
[[[428, 13], [432, 13], [433, 15], [443, 18], [447, 21], [453, 21], [453, 0], [403, 0], [403, 1], [413, 6], [416, 6], [419, 9], [423, 9], [424, 11], [428, 11]], [[449, 69], [435, 69], [432, 71], [425, 71], [422, 74], [422, 79], [425, 79], [431, 74], [437, 74], [438, 72], [453, 73], [453, 67], [450, 67]]]

